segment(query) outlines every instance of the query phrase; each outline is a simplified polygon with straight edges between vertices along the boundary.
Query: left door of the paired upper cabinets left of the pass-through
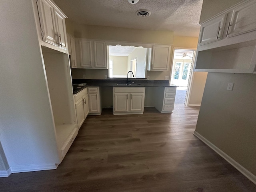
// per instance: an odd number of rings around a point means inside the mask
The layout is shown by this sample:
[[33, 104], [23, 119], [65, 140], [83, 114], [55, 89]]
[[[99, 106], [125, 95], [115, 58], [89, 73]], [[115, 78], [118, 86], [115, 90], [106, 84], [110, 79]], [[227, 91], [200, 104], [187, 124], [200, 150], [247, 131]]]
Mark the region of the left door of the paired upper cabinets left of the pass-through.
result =
[[81, 67], [92, 68], [92, 43], [82, 40], [80, 43]]

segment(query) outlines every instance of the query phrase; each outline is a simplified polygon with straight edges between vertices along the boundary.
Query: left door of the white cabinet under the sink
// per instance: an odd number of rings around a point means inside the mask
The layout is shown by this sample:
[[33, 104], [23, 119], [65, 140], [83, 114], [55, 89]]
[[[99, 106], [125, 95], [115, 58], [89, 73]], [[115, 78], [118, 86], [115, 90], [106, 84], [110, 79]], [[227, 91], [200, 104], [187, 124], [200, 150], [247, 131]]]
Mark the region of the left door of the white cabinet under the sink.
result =
[[128, 93], [115, 93], [114, 102], [115, 112], [128, 112]]

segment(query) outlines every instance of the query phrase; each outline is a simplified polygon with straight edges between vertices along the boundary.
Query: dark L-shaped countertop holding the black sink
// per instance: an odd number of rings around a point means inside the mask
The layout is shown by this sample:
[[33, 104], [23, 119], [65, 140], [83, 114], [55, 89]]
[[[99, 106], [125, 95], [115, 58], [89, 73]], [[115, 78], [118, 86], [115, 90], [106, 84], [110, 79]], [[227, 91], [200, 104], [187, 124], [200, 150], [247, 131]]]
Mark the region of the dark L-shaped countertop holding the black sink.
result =
[[[88, 86], [102, 87], [177, 87], [176, 85], [169, 84], [168, 80], [140, 80], [129, 79], [130, 85], [116, 85], [117, 83], [126, 83], [126, 79], [72, 79], [73, 94], [76, 94]], [[133, 85], [140, 84], [140, 85]], [[86, 85], [83, 85], [86, 84]], [[83, 85], [83, 86], [81, 86]], [[80, 87], [80, 88], [77, 88]]]

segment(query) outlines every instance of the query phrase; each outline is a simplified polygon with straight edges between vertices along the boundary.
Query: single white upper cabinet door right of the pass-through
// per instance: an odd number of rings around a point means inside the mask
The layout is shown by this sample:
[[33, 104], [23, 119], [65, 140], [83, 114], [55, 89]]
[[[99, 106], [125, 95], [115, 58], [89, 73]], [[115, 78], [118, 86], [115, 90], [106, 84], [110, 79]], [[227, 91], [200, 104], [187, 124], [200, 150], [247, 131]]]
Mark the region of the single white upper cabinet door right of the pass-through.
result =
[[168, 70], [171, 46], [153, 45], [151, 70]]

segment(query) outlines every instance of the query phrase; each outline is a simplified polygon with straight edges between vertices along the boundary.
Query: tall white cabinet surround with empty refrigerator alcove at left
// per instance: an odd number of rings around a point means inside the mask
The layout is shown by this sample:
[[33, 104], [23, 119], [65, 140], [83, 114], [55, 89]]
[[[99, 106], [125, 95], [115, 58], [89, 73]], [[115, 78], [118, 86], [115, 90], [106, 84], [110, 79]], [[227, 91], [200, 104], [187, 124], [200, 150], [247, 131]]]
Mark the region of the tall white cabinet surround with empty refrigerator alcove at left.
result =
[[78, 132], [65, 22], [59, 18], [56, 27], [54, 10], [64, 16], [50, 0], [1, 1], [0, 140], [7, 176], [56, 169]]

